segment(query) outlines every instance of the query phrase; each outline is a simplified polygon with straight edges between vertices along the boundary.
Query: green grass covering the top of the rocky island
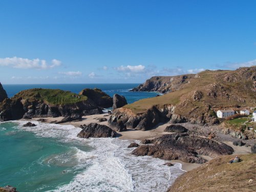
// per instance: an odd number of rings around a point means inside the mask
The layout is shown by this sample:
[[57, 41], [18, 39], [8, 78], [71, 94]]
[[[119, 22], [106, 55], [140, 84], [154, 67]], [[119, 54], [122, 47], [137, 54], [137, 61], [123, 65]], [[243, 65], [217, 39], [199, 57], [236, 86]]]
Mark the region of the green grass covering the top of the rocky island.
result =
[[68, 104], [87, 100], [83, 95], [58, 89], [30, 89], [19, 92], [12, 99], [42, 100], [49, 104]]

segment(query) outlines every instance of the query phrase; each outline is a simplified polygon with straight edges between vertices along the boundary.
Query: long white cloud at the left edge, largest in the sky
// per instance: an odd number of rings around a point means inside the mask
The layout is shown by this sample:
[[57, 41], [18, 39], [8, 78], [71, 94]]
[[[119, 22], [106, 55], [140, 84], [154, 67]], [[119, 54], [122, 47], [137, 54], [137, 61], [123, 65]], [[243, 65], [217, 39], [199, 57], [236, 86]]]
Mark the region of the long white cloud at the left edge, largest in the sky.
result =
[[49, 69], [61, 65], [61, 61], [57, 59], [52, 60], [52, 65], [47, 65], [44, 59], [27, 59], [21, 57], [6, 57], [0, 58], [0, 66], [9, 66], [19, 69]]

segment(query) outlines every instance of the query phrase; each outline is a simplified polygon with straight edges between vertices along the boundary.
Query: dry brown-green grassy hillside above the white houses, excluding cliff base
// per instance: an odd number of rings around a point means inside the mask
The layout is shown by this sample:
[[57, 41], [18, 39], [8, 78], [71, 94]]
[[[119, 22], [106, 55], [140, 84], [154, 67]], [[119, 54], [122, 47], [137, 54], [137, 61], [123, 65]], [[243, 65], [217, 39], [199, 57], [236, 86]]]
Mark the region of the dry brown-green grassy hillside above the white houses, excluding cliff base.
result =
[[[203, 71], [186, 84], [181, 84], [179, 90], [167, 93], [160, 97], [148, 98], [125, 105], [139, 114], [150, 109], [153, 105], [173, 104], [175, 112], [180, 115], [189, 115], [194, 109], [205, 108], [218, 109], [222, 106], [233, 105], [254, 106], [256, 105], [253, 80], [255, 80], [256, 67], [240, 68], [236, 71]], [[200, 93], [202, 98], [195, 99]]]

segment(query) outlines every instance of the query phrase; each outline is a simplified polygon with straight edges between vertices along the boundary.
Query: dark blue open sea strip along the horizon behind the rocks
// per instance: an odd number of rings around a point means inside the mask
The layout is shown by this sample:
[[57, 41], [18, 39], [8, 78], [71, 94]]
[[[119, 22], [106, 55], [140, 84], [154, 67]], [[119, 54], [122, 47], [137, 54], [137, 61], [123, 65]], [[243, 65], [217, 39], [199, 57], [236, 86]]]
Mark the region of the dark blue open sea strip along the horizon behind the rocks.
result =
[[155, 97], [157, 92], [129, 92], [129, 90], [137, 87], [138, 83], [116, 83], [116, 84], [3, 84], [4, 89], [7, 92], [8, 97], [13, 97], [15, 94], [22, 90], [33, 88], [46, 88], [46, 89], [61, 89], [65, 91], [71, 91], [73, 93], [79, 93], [86, 88], [98, 88], [106, 94], [113, 97], [114, 94], [123, 95], [128, 103], [133, 103], [139, 99]]

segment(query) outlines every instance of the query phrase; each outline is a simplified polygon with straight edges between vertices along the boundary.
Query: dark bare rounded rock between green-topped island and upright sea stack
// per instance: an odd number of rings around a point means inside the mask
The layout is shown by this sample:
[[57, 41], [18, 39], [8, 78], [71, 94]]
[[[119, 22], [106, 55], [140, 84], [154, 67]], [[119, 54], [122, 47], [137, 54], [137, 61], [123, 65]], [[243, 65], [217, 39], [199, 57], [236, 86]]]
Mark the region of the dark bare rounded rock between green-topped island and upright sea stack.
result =
[[84, 89], [79, 95], [87, 96], [101, 108], [110, 108], [113, 105], [113, 99], [100, 89]]

